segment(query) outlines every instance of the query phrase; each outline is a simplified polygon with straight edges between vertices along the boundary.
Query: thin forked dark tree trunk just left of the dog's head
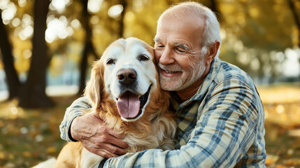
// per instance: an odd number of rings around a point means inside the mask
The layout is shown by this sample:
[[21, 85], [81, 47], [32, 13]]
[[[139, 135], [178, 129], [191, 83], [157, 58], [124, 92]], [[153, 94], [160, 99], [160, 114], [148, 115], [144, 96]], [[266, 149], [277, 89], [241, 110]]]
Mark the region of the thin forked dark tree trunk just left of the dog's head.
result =
[[85, 48], [83, 49], [83, 57], [80, 62], [80, 79], [79, 79], [79, 90], [78, 94], [83, 94], [83, 90], [85, 90], [85, 78], [87, 74], [87, 58], [90, 52], [97, 59], [99, 58], [97, 53], [94, 50], [94, 46], [92, 44], [92, 29], [90, 27], [90, 13], [87, 11], [87, 1], [81, 0], [83, 4], [83, 27], [85, 28]]

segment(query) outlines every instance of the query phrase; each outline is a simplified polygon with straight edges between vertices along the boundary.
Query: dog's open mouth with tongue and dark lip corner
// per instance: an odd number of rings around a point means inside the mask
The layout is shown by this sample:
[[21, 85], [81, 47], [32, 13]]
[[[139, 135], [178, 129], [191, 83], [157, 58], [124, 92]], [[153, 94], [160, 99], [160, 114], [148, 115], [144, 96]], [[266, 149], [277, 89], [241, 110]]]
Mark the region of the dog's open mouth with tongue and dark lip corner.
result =
[[122, 118], [127, 120], [138, 118], [143, 110], [143, 107], [148, 101], [151, 85], [148, 87], [147, 92], [139, 97], [133, 92], [126, 91], [122, 96], [117, 99], [117, 110]]

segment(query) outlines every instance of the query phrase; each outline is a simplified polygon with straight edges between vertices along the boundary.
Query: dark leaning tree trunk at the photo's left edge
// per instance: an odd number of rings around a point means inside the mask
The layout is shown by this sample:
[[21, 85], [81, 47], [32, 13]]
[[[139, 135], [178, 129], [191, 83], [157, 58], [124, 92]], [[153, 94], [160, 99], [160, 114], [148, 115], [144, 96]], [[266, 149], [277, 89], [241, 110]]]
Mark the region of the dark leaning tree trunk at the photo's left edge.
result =
[[13, 54], [11, 50], [11, 44], [8, 39], [8, 33], [2, 22], [1, 10], [0, 10], [0, 48], [2, 53], [2, 61], [4, 64], [4, 71], [6, 73], [6, 80], [8, 84], [8, 99], [13, 99], [19, 96], [20, 80], [17, 77], [15, 66], [13, 65]]

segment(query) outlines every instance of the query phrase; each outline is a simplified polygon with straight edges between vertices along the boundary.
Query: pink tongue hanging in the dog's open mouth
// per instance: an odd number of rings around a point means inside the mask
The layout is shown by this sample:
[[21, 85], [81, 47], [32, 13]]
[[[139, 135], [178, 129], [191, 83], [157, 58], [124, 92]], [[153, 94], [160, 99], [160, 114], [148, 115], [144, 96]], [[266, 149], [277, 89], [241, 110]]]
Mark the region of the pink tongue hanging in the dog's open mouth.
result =
[[135, 118], [140, 111], [138, 96], [131, 92], [125, 92], [117, 100], [117, 110], [123, 118]]

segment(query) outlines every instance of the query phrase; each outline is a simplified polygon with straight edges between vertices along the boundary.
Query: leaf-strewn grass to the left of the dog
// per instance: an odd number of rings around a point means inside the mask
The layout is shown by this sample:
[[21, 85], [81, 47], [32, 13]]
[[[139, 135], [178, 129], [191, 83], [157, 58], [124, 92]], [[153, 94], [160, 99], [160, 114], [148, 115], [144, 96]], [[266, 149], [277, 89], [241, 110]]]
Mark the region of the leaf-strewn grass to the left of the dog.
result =
[[21, 109], [17, 101], [0, 104], [0, 167], [31, 167], [56, 157], [66, 141], [59, 124], [74, 97], [57, 97], [51, 109]]

